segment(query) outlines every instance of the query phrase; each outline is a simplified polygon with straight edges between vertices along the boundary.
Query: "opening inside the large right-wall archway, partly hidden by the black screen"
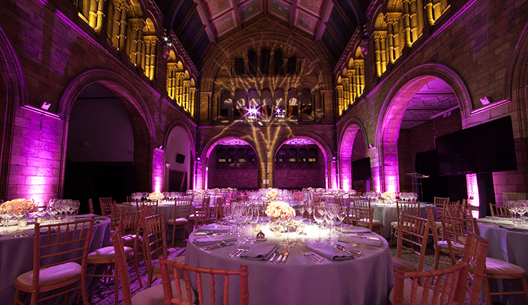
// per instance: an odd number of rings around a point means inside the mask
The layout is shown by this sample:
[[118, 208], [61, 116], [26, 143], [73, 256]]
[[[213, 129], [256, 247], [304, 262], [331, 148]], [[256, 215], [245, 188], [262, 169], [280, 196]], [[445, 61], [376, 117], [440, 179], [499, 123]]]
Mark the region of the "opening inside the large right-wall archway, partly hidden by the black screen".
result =
[[[452, 201], [467, 198], [466, 176], [438, 176], [435, 138], [462, 129], [459, 101], [442, 79], [416, 79], [398, 93], [393, 107], [398, 116], [397, 149], [399, 191], [416, 191], [421, 201], [435, 196]], [[413, 185], [412, 173], [428, 176]], [[416, 182], [420, 182], [418, 179]]]

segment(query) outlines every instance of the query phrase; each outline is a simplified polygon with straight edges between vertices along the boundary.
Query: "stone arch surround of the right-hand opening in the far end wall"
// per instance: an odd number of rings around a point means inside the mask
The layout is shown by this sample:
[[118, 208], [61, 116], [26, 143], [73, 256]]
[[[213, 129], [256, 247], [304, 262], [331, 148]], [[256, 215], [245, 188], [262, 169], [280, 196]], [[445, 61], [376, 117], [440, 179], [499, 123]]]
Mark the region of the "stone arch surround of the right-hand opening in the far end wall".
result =
[[[268, 160], [273, 160], [273, 156], [277, 154], [278, 149], [283, 146], [283, 144], [292, 138], [299, 137], [304, 138], [307, 140], [311, 140], [313, 143], [319, 147], [319, 149], [323, 152], [323, 156], [325, 156], [325, 182], [327, 189], [330, 189], [331, 187], [336, 187], [335, 182], [332, 183], [332, 172], [334, 172], [334, 168], [332, 168], [332, 149], [328, 146], [328, 144], [323, 140], [322, 137], [319, 137], [315, 133], [310, 133], [307, 131], [297, 131], [289, 133], [283, 137], [280, 137], [274, 144], [273, 147], [269, 150], [269, 158]], [[270, 157], [271, 156], [271, 157]], [[270, 161], [271, 162], [271, 161]]]

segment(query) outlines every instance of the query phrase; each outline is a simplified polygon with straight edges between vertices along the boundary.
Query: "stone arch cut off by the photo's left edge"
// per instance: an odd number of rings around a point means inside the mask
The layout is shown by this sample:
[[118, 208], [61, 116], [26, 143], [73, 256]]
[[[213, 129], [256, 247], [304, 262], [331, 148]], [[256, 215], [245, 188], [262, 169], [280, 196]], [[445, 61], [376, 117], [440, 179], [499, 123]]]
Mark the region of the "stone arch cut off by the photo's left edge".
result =
[[17, 52], [0, 27], [0, 198], [6, 199], [15, 111], [29, 104], [27, 82]]

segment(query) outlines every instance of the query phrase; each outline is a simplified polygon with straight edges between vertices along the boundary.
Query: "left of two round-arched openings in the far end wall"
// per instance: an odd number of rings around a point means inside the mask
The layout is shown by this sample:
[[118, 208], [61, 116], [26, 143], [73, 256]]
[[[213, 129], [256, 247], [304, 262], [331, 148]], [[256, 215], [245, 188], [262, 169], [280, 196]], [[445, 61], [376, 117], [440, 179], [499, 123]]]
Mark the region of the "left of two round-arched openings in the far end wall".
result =
[[257, 189], [258, 160], [255, 149], [239, 138], [228, 137], [214, 144], [208, 156], [204, 188]]

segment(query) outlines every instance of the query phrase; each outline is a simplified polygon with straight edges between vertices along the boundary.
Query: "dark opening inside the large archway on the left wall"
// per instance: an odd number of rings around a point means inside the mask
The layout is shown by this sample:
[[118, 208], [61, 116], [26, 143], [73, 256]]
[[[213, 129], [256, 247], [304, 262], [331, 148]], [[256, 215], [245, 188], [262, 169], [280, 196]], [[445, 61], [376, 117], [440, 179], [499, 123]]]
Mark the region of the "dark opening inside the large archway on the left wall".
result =
[[[135, 142], [128, 114], [107, 88], [93, 83], [81, 91], [69, 114], [65, 198], [86, 203], [135, 191]], [[88, 212], [83, 205], [81, 212]]]

